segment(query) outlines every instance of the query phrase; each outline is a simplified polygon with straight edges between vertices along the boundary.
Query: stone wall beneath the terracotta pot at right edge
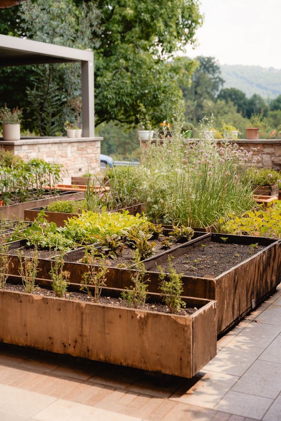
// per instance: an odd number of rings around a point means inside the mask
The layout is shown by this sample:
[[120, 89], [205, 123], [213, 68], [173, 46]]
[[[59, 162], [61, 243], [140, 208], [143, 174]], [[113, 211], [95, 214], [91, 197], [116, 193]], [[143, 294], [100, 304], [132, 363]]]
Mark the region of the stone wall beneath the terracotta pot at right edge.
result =
[[230, 141], [237, 143], [239, 147], [243, 147], [247, 152], [253, 148], [253, 155], [260, 157], [260, 162], [257, 163], [258, 168], [273, 168], [273, 170], [281, 170], [281, 139], [238, 139]]

